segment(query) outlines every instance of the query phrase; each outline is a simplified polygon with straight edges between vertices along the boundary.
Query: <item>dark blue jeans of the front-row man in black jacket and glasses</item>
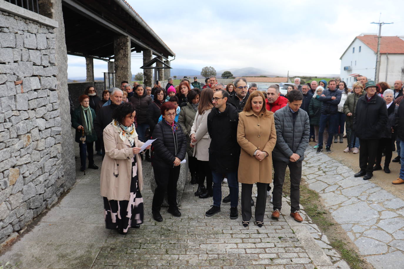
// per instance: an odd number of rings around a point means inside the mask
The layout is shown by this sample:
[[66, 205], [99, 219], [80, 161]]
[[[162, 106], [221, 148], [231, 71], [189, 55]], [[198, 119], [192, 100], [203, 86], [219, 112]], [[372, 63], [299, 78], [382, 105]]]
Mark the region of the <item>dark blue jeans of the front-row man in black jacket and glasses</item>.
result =
[[[222, 200], [222, 177], [221, 173], [212, 171], [213, 177], [213, 205], [220, 206]], [[237, 171], [229, 172], [225, 174], [227, 177], [227, 185], [229, 185], [230, 190], [230, 206], [237, 207], [238, 205], [238, 181], [237, 181]]]

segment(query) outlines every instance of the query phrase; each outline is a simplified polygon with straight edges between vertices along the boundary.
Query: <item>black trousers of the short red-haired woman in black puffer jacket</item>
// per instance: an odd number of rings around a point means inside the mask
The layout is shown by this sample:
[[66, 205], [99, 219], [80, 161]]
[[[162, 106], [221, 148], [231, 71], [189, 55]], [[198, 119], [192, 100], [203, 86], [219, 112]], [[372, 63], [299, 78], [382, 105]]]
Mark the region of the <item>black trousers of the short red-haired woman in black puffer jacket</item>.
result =
[[168, 208], [177, 207], [177, 181], [181, 165], [170, 167], [158, 162], [153, 163], [154, 179], [156, 180], [156, 190], [154, 190], [151, 211], [159, 212], [167, 192]]

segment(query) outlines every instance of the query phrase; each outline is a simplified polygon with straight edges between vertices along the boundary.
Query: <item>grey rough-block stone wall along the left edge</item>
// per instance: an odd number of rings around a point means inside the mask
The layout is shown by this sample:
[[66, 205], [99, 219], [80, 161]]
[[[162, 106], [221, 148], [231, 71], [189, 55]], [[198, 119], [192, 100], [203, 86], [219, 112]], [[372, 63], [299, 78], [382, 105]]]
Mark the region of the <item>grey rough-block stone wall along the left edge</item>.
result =
[[55, 29], [0, 11], [0, 243], [67, 189]]

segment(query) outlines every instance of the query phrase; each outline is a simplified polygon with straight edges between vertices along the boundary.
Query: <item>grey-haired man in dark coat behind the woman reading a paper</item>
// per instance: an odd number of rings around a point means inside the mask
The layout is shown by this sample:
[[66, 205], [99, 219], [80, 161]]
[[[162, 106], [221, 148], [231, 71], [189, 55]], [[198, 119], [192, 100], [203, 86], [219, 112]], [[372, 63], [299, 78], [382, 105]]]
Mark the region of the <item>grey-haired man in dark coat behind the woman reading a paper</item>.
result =
[[[123, 92], [118, 88], [112, 89], [111, 93], [111, 104], [108, 106], [103, 106], [99, 109], [97, 118], [94, 121], [94, 129], [97, 133], [99, 140], [103, 141], [103, 131], [109, 123], [112, 121], [112, 112], [117, 106], [122, 103]], [[104, 143], [102, 143], [102, 156], [105, 156]]]

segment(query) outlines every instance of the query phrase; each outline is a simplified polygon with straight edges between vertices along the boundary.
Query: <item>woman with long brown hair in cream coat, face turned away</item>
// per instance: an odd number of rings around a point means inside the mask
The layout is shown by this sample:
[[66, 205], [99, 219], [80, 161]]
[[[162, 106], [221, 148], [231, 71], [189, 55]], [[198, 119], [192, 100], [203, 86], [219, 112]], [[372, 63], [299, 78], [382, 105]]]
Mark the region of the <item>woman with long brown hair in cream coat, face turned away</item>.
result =
[[[208, 198], [213, 195], [212, 170], [210, 170], [209, 166], [210, 136], [208, 133], [208, 115], [213, 108], [212, 97], [213, 90], [210, 88], [202, 90], [198, 112], [195, 115], [189, 135], [191, 137], [191, 147], [194, 148], [193, 156], [197, 160], [198, 190], [196, 190], [195, 196], [199, 196], [199, 198]], [[206, 188], [204, 186], [205, 177]]]

